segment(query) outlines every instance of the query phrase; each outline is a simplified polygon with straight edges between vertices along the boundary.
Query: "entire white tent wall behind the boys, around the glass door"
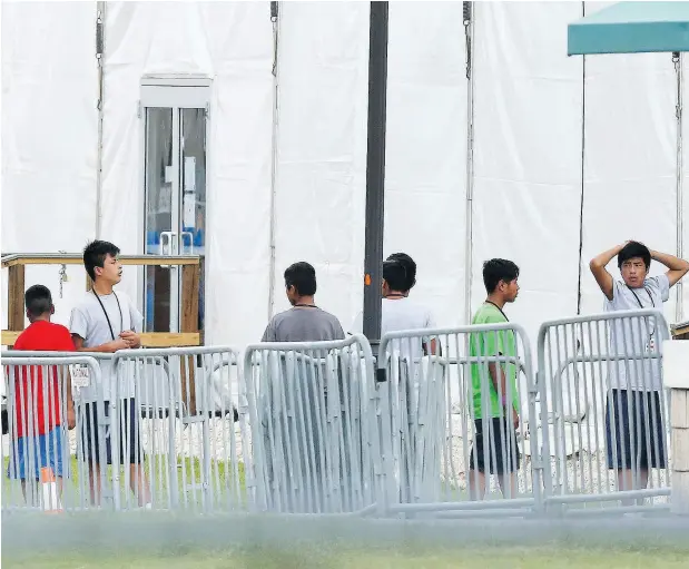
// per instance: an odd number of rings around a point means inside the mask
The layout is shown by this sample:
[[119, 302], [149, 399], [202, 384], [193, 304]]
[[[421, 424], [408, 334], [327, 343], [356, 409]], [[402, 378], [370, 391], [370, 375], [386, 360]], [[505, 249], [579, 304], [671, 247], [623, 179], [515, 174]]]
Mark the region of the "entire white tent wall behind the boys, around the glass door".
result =
[[[473, 308], [493, 256], [520, 265], [509, 314], [533, 333], [601, 308], [587, 266], [600, 251], [628, 238], [670, 253], [683, 239], [687, 251], [677, 178], [689, 159], [678, 173], [669, 55], [568, 58], [567, 24], [581, 16], [581, 2], [475, 3], [469, 112], [462, 3], [391, 3], [385, 254], [416, 259], [413, 295], [439, 324], [466, 322], [465, 291]], [[142, 253], [141, 80], [203, 77], [206, 342], [259, 339], [286, 306], [282, 272], [299, 259], [314, 264], [317, 302], [346, 328], [363, 298], [367, 43], [366, 2], [280, 2], [274, 112], [268, 2], [4, 3], [2, 252], [78, 252], [98, 226], [122, 253]], [[69, 271], [62, 323], [83, 286]], [[30, 268], [27, 285], [37, 282], [58, 296], [56, 267]], [[124, 286], [142, 305], [135, 271]], [[667, 315], [681, 316], [675, 294]]]

